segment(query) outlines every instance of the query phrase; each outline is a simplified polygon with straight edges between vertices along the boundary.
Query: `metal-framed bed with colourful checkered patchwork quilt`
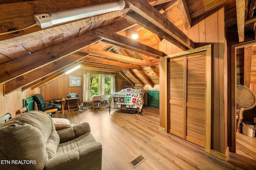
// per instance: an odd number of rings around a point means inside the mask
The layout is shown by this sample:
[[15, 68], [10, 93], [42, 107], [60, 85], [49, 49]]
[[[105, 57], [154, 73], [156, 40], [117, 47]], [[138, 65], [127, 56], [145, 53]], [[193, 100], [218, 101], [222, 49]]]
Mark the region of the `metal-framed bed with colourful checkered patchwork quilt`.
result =
[[109, 113], [111, 108], [136, 110], [138, 115], [144, 105], [145, 91], [141, 86], [123, 86], [122, 90], [108, 97]]

